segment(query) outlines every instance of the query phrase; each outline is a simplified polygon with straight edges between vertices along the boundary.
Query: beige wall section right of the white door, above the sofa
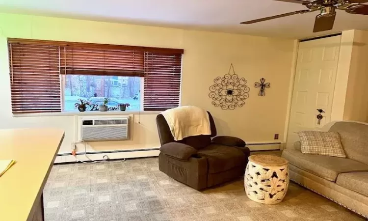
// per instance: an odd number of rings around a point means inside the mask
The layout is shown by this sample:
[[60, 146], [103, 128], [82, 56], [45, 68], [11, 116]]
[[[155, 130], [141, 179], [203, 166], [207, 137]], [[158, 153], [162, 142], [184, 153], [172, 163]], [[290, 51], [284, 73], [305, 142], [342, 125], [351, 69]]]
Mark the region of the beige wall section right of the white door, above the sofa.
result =
[[342, 32], [331, 121], [368, 122], [368, 31]]

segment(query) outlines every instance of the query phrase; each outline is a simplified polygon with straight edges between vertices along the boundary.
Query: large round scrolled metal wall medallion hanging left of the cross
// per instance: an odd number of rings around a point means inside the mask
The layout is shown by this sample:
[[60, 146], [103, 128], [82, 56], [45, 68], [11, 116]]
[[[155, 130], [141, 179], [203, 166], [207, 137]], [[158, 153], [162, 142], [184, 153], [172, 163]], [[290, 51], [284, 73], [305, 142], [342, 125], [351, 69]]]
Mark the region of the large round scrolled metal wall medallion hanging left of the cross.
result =
[[230, 65], [229, 72], [224, 77], [217, 77], [213, 82], [209, 97], [212, 99], [212, 105], [221, 107], [222, 110], [240, 108], [249, 97], [250, 88], [246, 85], [247, 81], [235, 74], [233, 64]]

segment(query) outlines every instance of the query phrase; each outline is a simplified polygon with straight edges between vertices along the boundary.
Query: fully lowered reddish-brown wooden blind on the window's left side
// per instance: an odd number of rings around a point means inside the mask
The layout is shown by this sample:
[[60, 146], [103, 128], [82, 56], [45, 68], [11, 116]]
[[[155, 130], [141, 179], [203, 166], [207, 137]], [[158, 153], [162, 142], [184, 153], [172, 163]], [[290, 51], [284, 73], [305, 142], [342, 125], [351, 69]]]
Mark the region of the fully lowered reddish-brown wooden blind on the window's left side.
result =
[[13, 113], [60, 112], [59, 47], [9, 44]]

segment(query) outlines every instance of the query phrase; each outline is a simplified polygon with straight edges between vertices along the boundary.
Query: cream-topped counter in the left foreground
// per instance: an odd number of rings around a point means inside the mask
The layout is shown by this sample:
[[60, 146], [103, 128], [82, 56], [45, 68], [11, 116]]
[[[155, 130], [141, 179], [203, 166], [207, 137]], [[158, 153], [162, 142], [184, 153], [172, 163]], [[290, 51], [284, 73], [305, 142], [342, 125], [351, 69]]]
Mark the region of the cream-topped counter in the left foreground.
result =
[[16, 163], [0, 177], [0, 221], [43, 221], [43, 189], [64, 138], [58, 129], [0, 130], [0, 160]]

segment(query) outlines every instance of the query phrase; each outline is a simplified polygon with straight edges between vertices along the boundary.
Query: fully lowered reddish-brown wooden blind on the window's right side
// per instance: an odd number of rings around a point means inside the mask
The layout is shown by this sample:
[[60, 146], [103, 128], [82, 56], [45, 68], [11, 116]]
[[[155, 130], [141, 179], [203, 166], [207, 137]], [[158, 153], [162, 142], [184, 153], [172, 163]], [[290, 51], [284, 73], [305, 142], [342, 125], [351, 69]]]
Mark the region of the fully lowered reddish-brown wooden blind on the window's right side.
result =
[[182, 54], [145, 55], [144, 111], [164, 111], [180, 105]]

